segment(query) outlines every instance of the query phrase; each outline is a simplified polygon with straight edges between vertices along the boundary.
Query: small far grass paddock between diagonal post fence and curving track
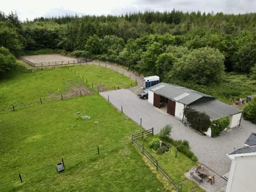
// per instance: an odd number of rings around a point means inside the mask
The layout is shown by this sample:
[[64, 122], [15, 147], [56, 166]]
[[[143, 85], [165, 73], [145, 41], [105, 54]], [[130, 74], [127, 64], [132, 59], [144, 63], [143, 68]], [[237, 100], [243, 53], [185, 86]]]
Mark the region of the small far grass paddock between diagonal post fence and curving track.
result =
[[114, 87], [117, 89], [127, 88], [130, 87], [133, 83], [133, 86], [137, 85], [136, 82], [129, 77], [120, 74], [112, 69], [98, 66], [98, 65], [91, 65], [91, 64], [84, 64], [84, 65], [75, 65], [75, 67], [69, 67], [69, 70], [72, 69], [72, 72], [78, 76], [80, 79], [86, 83], [87, 85], [97, 91], [97, 87], [101, 88], [102, 91], [109, 91], [114, 90]]

